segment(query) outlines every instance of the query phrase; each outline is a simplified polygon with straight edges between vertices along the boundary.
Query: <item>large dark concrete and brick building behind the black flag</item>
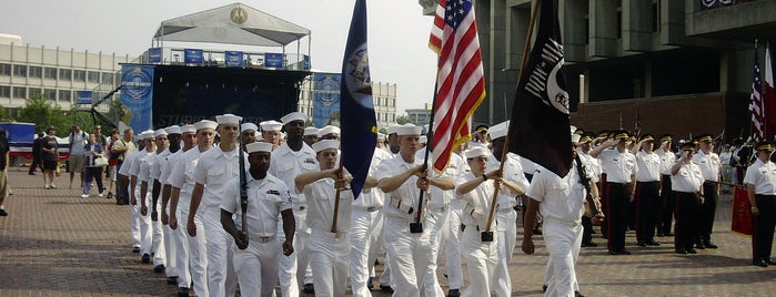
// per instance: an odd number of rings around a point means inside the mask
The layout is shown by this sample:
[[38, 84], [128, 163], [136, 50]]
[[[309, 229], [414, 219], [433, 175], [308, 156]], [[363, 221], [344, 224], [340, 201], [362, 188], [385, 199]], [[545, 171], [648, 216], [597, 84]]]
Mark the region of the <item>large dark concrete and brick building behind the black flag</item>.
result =
[[[510, 116], [535, 1], [472, 1], [487, 80], [473, 121], [493, 124]], [[558, 17], [573, 124], [748, 135], [755, 40], [765, 69], [776, 1], [558, 0]]]

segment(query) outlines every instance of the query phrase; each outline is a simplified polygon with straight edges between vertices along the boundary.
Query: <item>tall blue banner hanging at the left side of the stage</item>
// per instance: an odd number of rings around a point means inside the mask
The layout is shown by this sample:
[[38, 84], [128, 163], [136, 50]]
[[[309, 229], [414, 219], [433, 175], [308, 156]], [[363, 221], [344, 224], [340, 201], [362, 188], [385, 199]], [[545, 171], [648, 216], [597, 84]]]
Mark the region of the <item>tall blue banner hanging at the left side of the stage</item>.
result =
[[[121, 119], [135, 133], [152, 127], [153, 66], [121, 66]], [[125, 109], [124, 109], [125, 107]]]

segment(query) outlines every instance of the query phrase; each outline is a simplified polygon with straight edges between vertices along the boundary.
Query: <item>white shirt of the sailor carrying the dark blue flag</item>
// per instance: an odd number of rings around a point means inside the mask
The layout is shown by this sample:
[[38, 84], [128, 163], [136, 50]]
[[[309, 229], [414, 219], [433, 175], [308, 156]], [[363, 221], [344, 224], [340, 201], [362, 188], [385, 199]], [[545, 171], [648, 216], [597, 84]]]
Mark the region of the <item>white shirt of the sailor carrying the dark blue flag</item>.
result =
[[[315, 233], [329, 233], [332, 228], [334, 216], [334, 202], [336, 190], [334, 180], [321, 178], [304, 186], [302, 191], [308, 197], [308, 226]], [[340, 192], [340, 207], [337, 208], [336, 232], [347, 231], [351, 227], [351, 208], [353, 191]]]

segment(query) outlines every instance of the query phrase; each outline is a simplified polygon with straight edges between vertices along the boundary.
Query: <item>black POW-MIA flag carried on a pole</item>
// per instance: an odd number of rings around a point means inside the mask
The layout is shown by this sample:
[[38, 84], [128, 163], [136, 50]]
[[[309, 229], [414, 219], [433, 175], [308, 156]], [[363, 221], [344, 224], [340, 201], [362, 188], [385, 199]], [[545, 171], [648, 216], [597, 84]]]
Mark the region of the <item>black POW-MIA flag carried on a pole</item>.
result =
[[557, 0], [542, 0], [536, 42], [517, 84], [507, 136], [510, 152], [560, 176], [566, 176], [572, 164], [563, 63]]

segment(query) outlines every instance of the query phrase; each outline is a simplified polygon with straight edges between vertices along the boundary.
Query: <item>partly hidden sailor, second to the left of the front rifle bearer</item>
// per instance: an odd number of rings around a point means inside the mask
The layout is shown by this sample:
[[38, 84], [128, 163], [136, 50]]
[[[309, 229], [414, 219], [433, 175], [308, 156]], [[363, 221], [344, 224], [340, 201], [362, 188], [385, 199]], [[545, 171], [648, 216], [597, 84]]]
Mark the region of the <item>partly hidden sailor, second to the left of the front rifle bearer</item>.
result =
[[[215, 127], [218, 123], [202, 120], [192, 127], [183, 126], [183, 140], [195, 140], [196, 146], [185, 151], [175, 158], [168, 182], [172, 186], [170, 191], [170, 228], [178, 229], [180, 249], [178, 252], [178, 296], [189, 296], [189, 285], [193, 285], [196, 296], [210, 296], [208, 290], [208, 243], [204, 236], [189, 236], [187, 225], [179, 228], [179, 217], [189, 218], [191, 208], [191, 194], [194, 185], [194, 171], [200, 156], [213, 147]], [[193, 136], [193, 137], [192, 137]], [[196, 234], [204, 234], [204, 212], [196, 213], [193, 221]], [[187, 221], [188, 224], [188, 221]]]

